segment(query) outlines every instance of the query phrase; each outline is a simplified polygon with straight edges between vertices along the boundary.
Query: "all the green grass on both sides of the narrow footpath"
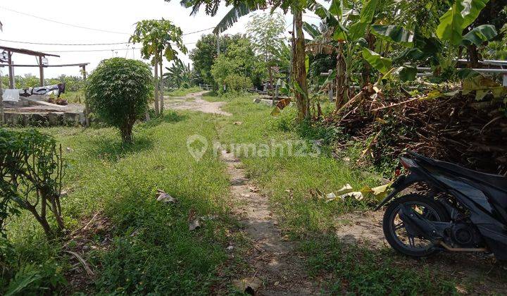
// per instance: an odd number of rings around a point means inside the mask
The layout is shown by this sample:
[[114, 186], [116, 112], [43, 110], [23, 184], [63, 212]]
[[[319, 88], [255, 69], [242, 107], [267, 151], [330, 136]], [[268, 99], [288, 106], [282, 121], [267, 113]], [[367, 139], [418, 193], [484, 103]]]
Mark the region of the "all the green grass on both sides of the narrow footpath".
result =
[[[252, 97], [217, 97], [233, 116], [167, 111], [163, 118], [135, 126], [135, 142], [124, 146], [111, 128], [45, 128], [63, 144], [69, 168], [65, 176], [65, 222], [71, 229], [82, 227], [97, 212], [114, 227], [99, 233], [92, 241], [103, 249], [86, 258], [97, 272], [91, 292], [99, 294], [208, 294], [231, 292], [230, 278], [241, 264], [241, 251], [235, 259], [225, 247], [242, 238], [235, 234], [237, 221], [230, 217], [229, 180], [225, 165], [211, 149], [196, 162], [187, 152], [187, 137], [202, 135], [219, 140], [226, 149], [232, 144], [256, 144], [287, 151], [289, 142], [303, 152], [315, 152], [312, 140], [320, 140], [318, 155], [287, 156], [270, 153], [239, 154], [249, 178], [270, 203], [280, 219], [282, 235], [299, 242], [306, 254], [308, 273], [331, 294], [436, 294], [455, 293], [454, 280], [424, 262], [406, 262], [390, 249], [366, 249], [343, 245], [335, 237], [337, 216], [350, 211], [371, 209], [368, 201], [352, 199], [329, 202], [312, 196], [316, 189], [328, 193], [349, 183], [355, 188], [379, 185], [370, 167], [354, 167], [349, 161], [330, 156], [339, 130], [311, 123], [294, 123], [295, 111], [269, 115], [271, 107], [253, 104]], [[235, 123], [235, 124], [233, 124]], [[294, 143], [294, 142], [293, 142]], [[273, 151], [273, 150], [271, 150]], [[361, 153], [353, 147], [344, 155]], [[162, 189], [178, 199], [177, 204], [160, 204], [154, 196]], [[215, 216], [195, 231], [189, 231], [189, 211], [199, 216]], [[69, 292], [63, 274], [70, 269], [70, 257], [63, 245], [45, 242], [42, 232], [28, 216], [9, 225], [13, 249], [10, 263], [24, 278], [37, 273], [39, 279], [23, 292], [39, 288]], [[4, 252], [5, 254], [5, 252]], [[1, 285], [9, 285], [3, 279]], [[18, 279], [21, 283], [23, 277]], [[12, 280], [12, 283], [18, 283]], [[4, 288], [5, 291], [5, 288]], [[72, 292], [72, 291], [70, 291]]]

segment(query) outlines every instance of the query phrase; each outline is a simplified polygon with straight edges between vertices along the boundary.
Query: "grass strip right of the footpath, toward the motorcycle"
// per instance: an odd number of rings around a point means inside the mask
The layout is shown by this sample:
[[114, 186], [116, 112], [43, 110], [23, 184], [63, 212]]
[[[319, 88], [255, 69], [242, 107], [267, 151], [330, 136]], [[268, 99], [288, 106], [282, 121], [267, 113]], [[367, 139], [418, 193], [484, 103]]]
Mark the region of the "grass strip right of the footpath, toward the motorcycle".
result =
[[[342, 136], [339, 130], [332, 128], [294, 123], [293, 108], [284, 109], [280, 117], [273, 118], [269, 115], [271, 107], [253, 104], [251, 97], [232, 99], [224, 109], [234, 114], [217, 121], [220, 141], [226, 145], [301, 139], [332, 144], [334, 138]], [[335, 192], [346, 183], [354, 188], [374, 186], [380, 185], [380, 180], [375, 168], [354, 167], [347, 161], [330, 157], [327, 147], [321, 149], [323, 153], [318, 156], [241, 155], [249, 177], [270, 197], [284, 235], [299, 242], [301, 251], [306, 254], [310, 275], [320, 278], [323, 288], [330, 294], [455, 293], [454, 279], [433, 270], [430, 264], [421, 264], [421, 268], [411, 264], [400, 266], [390, 249], [351, 247], [339, 242], [334, 235], [339, 223], [337, 216], [371, 209], [371, 204], [352, 199], [326, 203], [313, 197], [311, 191]], [[351, 159], [360, 153], [361, 150], [353, 146], [344, 152]], [[403, 257], [399, 260], [406, 261]]]

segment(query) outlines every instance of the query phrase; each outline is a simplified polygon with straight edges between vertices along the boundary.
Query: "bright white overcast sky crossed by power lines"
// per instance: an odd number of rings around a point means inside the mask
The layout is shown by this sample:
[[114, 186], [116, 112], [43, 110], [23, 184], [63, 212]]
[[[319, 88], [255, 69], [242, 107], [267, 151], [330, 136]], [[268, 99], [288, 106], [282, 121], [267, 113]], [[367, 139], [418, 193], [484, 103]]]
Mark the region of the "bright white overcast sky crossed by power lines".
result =
[[[206, 16], [201, 9], [195, 16], [190, 16], [191, 8], [183, 8], [179, 1], [165, 2], [163, 0], [17, 0], [0, 2], [0, 21], [4, 24], [3, 32], [0, 32], [0, 44], [6, 47], [15, 47], [42, 51], [47, 54], [56, 54], [60, 57], [48, 57], [49, 65], [68, 63], [90, 63], [87, 72], [91, 72], [96, 65], [105, 58], [121, 56], [141, 59], [139, 44], [116, 44], [96, 46], [61, 46], [24, 44], [17, 42], [33, 43], [58, 43], [58, 44], [96, 44], [127, 42], [130, 33], [134, 31], [134, 24], [144, 19], [165, 18], [171, 20], [182, 28], [183, 33], [194, 32], [214, 27], [230, 7], [221, 6], [216, 16]], [[31, 15], [31, 16], [30, 16]], [[35, 18], [33, 16], [37, 16]], [[43, 20], [41, 18], [45, 18]], [[49, 20], [53, 20], [51, 22]], [[246, 23], [249, 16], [239, 19], [224, 34], [246, 33]], [[287, 31], [292, 24], [292, 16], [285, 16]], [[305, 13], [303, 20], [308, 23], [318, 24], [319, 20], [313, 13]], [[59, 23], [55, 23], [59, 22]], [[74, 25], [63, 25], [62, 23]], [[78, 26], [78, 27], [75, 27]], [[88, 30], [88, 27], [96, 30]], [[104, 32], [108, 31], [108, 32]], [[192, 50], [195, 42], [202, 34], [211, 33], [212, 29], [205, 32], [188, 34], [183, 36], [187, 49]], [[286, 31], [286, 35], [289, 36]], [[8, 40], [8, 41], [6, 41]], [[102, 50], [102, 51], [90, 51]], [[67, 52], [63, 52], [67, 51]], [[188, 56], [178, 56], [185, 63], [191, 63]], [[36, 65], [34, 56], [13, 55], [13, 63]], [[170, 66], [165, 61], [164, 66]], [[2, 75], [7, 75], [7, 68], [0, 68]], [[15, 75], [31, 73], [39, 75], [38, 68], [15, 68]], [[58, 75], [80, 75], [80, 68], [45, 68], [45, 78], [54, 78]]]

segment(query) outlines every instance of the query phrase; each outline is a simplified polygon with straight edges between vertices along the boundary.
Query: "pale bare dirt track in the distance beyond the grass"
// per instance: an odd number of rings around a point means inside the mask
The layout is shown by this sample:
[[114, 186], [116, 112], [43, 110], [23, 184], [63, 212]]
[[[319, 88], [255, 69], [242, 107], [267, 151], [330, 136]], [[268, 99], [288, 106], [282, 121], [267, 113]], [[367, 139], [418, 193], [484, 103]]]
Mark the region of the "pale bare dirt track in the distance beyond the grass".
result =
[[170, 109], [201, 111], [224, 116], [232, 115], [220, 109], [225, 105], [225, 101], [211, 102], [202, 99], [202, 95], [206, 92], [207, 91], [195, 92], [193, 94], [187, 94], [185, 97], [164, 97], [164, 105], [168, 106]]

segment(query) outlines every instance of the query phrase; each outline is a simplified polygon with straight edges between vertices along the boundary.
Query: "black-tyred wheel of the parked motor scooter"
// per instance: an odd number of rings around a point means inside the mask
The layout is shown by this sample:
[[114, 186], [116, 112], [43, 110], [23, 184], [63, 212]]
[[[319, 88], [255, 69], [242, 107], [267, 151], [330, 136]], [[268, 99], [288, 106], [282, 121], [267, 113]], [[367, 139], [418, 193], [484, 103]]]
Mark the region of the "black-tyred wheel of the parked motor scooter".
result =
[[389, 245], [396, 251], [411, 257], [427, 257], [439, 252], [439, 248], [435, 247], [430, 240], [407, 233], [399, 217], [401, 204], [411, 206], [430, 221], [448, 220], [445, 209], [434, 199], [419, 194], [403, 195], [394, 199], [384, 212], [382, 229]]

